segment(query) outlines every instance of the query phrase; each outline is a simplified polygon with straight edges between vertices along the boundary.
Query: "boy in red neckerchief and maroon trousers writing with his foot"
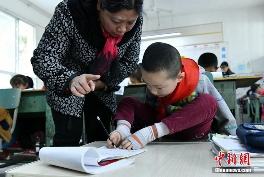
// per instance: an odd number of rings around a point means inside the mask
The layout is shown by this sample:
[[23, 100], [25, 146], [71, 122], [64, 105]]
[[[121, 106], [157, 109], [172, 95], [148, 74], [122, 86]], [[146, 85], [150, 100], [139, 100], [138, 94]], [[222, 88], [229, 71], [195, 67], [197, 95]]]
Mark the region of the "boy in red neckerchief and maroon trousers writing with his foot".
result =
[[235, 135], [236, 120], [194, 60], [181, 59], [173, 46], [156, 42], [146, 49], [141, 70], [148, 88], [145, 103], [122, 98], [112, 121], [117, 127], [110, 140], [121, 149], [141, 149], [162, 136], [206, 138], [214, 117], [219, 133]]

